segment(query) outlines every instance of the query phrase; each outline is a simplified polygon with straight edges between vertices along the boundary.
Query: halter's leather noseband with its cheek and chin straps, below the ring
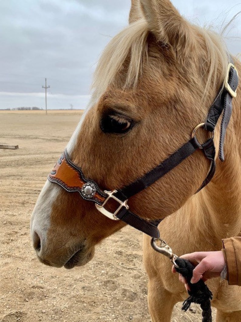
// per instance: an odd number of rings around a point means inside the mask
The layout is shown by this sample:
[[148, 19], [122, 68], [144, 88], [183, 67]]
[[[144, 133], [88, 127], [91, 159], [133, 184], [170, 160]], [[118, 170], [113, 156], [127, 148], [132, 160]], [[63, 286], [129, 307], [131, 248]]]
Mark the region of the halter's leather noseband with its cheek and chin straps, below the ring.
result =
[[[158, 180], [159, 177], [162, 177], [167, 172], [171, 171], [198, 148], [200, 148], [200, 144], [196, 138], [193, 137], [162, 164], [154, 168], [150, 172], [150, 176], [148, 176], [149, 173], [147, 173], [147, 175], [140, 178], [133, 185], [127, 186], [126, 189], [104, 192], [100, 190], [93, 180], [85, 178], [81, 168], [70, 160], [67, 150], [65, 150], [48, 175], [48, 180], [57, 183], [67, 192], [78, 192], [83, 199], [94, 202], [96, 208], [106, 217], [112, 220], [122, 220], [128, 225], [158, 239], [160, 234], [157, 225], [160, 223], [160, 220], [147, 221], [132, 213], [129, 211], [127, 199], [129, 196], [137, 194], [139, 191]], [[147, 182], [146, 178], [148, 178]], [[114, 213], [109, 212], [105, 208], [105, 205], [110, 199], [115, 200], [119, 204], [119, 207], [117, 207], [117, 210]]]

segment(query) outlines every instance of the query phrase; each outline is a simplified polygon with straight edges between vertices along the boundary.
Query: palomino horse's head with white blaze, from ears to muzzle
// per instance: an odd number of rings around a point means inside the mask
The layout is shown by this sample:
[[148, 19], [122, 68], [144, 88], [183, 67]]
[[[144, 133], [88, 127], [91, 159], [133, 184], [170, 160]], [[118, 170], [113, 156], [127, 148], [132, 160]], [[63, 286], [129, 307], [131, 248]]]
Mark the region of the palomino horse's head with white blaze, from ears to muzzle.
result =
[[[129, 22], [104, 50], [90, 106], [67, 145], [71, 162], [102, 191], [131, 184], [188, 141], [206, 119], [228, 66], [219, 36], [191, 25], [169, 0], [132, 1]], [[209, 133], [198, 136], [204, 142]], [[197, 191], [209, 167], [198, 149], [131, 196], [129, 209], [143, 219], [165, 218]], [[113, 200], [108, 207], [115, 208]], [[95, 245], [124, 225], [78, 191], [47, 180], [32, 213], [31, 237], [40, 261], [72, 268], [85, 265]]]

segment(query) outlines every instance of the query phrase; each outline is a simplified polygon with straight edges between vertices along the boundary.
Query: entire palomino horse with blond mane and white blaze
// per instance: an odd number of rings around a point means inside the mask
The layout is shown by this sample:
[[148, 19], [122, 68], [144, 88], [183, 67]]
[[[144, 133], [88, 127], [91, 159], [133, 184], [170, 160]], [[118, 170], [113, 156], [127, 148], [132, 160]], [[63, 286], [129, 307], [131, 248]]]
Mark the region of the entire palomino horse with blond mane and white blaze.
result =
[[[118, 190], [167, 159], [205, 121], [224, 85], [231, 57], [220, 37], [188, 23], [169, 0], [132, 1], [129, 21], [103, 52], [92, 105], [49, 177], [54, 177], [68, 154], [62, 175], [68, 177], [73, 162], [73, 171], [80, 173], [81, 167], [91, 180], [74, 193], [67, 191], [63, 178], [59, 180], [62, 187], [47, 180], [34, 208], [31, 237], [40, 261], [47, 265], [71, 268], [93, 258], [95, 245], [125, 225], [104, 215], [116, 207], [112, 198], [104, 214], [88, 202], [93, 196], [101, 204], [106, 196], [95, 183], [101, 190]], [[240, 62], [232, 61], [241, 74]], [[201, 191], [195, 194], [210, 161], [196, 149], [129, 198], [129, 209], [146, 223], [164, 219], [158, 226], [160, 234], [176, 254], [219, 250], [222, 238], [240, 234], [240, 107], [238, 88], [225, 138], [225, 162], [216, 154], [215, 175]], [[217, 151], [220, 124], [219, 120], [214, 136]], [[199, 141], [206, 141], [210, 133], [199, 129], [198, 136]], [[116, 218], [112, 215], [112, 219]], [[170, 321], [174, 304], [187, 294], [177, 274], [171, 273], [168, 259], [151, 248], [148, 235], [144, 235], [144, 262], [152, 320]], [[241, 288], [219, 278], [207, 284], [217, 321], [241, 321]]]

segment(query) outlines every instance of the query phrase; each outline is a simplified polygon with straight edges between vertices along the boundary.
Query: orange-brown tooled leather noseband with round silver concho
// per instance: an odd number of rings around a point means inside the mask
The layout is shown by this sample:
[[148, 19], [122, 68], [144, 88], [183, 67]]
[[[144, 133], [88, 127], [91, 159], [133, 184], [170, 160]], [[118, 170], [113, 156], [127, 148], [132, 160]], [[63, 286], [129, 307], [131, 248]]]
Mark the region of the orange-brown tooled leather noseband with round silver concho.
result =
[[[51, 182], [57, 183], [62, 186], [67, 191], [78, 191], [81, 194], [81, 189], [83, 185], [88, 182], [88, 180], [83, 180], [81, 178], [80, 171], [75, 169], [71, 164], [66, 160], [65, 154], [63, 154], [56, 165], [54, 166], [51, 173], [48, 175], [48, 179]], [[96, 185], [97, 186], [97, 185]], [[95, 187], [96, 188], [96, 187]], [[98, 204], [102, 204], [105, 200], [105, 197], [95, 191], [94, 196], [91, 199], [85, 198], [82, 194], [81, 196], [86, 200], [96, 201]], [[94, 199], [94, 200], [93, 200]]]

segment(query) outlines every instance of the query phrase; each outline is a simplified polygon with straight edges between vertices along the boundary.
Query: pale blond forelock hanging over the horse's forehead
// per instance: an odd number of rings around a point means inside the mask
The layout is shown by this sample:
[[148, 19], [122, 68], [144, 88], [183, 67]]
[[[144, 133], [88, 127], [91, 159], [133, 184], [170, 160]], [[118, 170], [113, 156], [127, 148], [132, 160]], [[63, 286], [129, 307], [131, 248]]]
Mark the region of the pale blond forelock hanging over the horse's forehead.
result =
[[[130, 63], [124, 88], [135, 86], [147, 59], [147, 21], [142, 18], [129, 24], [105, 47], [94, 73], [92, 88], [97, 96], [103, 94], [121, 69], [129, 52]], [[99, 94], [99, 95], [98, 95]]]

